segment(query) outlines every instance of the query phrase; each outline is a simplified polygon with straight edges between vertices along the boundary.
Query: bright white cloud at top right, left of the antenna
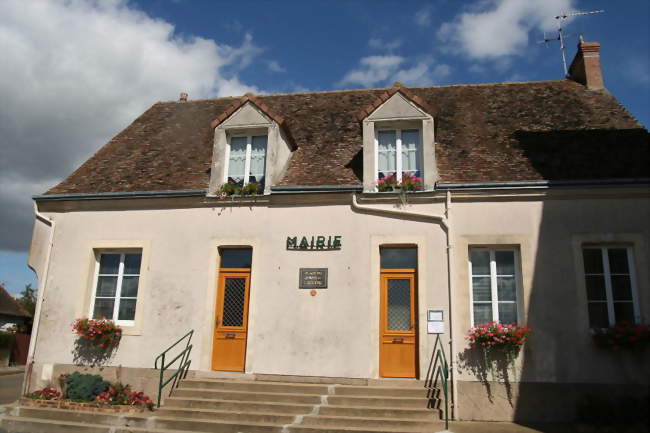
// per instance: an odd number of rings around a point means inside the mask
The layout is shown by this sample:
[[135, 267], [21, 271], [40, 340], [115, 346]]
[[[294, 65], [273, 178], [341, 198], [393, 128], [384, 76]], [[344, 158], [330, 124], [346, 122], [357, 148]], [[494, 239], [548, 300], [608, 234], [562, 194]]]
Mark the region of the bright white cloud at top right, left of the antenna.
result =
[[438, 38], [472, 59], [523, 55], [530, 32], [555, 30], [554, 17], [572, 10], [573, 0], [481, 0], [444, 23]]

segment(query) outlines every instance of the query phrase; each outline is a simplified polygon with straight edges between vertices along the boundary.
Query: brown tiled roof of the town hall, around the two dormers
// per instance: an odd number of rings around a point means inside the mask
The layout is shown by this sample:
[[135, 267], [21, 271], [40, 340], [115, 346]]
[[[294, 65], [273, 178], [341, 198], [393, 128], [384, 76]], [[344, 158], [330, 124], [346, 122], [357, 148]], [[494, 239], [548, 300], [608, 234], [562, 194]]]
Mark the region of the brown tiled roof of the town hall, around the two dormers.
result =
[[[361, 185], [359, 116], [386, 91], [255, 96], [296, 146], [279, 185]], [[435, 113], [440, 182], [650, 176], [647, 130], [606, 90], [567, 79], [408, 92]], [[238, 101], [158, 102], [47, 194], [205, 189], [211, 123]]]

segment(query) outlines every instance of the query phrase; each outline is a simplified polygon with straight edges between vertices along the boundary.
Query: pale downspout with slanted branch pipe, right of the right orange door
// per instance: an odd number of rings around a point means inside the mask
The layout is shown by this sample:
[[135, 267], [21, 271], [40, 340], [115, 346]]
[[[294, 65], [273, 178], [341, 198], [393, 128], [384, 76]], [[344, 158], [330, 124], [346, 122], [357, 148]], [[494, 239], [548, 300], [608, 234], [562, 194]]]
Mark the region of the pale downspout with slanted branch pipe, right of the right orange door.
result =
[[447, 191], [447, 199], [445, 201], [445, 214], [444, 215], [430, 215], [430, 214], [421, 214], [421, 213], [416, 213], [416, 212], [407, 212], [407, 211], [399, 211], [399, 210], [393, 210], [393, 209], [378, 209], [374, 207], [369, 207], [369, 206], [362, 206], [359, 205], [357, 202], [357, 194], [352, 194], [352, 209], [359, 210], [359, 211], [364, 211], [364, 212], [369, 212], [369, 213], [374, 213], [374, 214], [384, 214], [384, 215], [393, 215], [393, 216], [399, 216], [399, 217], [410, 217], [410, 218], [419, 218], [419, 219], [425, 219], [429, 221], [436, 222], [440, 224], [442, 229], [444, 230], [446, 237], [447, 237], [447, 247], [445, 248], [447, 250], [447, 290], [448, 290], [448, 298], [449, 298], [449, 360], [450, 360], [450, 367], [449, 370], [451, 372], [451, 387], [452, 387], [452, 402], [451, 402], [451, 410], [452, 410], [452, 419], [455, 419], [456, 414], [457, 414], [457, 401], [458, 401], [458, 394], [457, 394], [457, 387], [456, 387], [456, 357], [454, 356], [454, 338], [453, 338], [453, 326], [452, 326], [452, 308], [453, 308], [453, 295], [454, 295], [454, 289], [453, 289], [453, 281], [454, 279], [452, 278], [452, 269], [454, 269], [454, 265], [452, 263], [453, 261], [453, 243], [452, 243], [452, 233], [451, 233], [451, 219], [450, 219], [450, 209], [451, 209], [451, 192], [448, 190]]

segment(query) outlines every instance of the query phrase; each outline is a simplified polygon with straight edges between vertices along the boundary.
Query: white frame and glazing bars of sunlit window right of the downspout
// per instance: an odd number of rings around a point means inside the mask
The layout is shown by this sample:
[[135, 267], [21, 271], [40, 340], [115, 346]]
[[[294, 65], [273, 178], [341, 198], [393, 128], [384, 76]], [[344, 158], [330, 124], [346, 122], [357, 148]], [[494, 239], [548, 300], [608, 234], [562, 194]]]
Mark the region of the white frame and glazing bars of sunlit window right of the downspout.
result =
[[[488, 251], [490, 253], [490, 301], [476, 301], [477, 303], [490, 303], [492, 305], [492, 321], [499, 322], [499, 302], [507, 302], [515, 304], [515, 311], [517, 317], [517, 323], [522, 322], [522, 312], [521, 312], [521, 258], [518, 248], [503, 248], [503, 247], [469, 247], [467, 266], [469, 269], [469, 312], [470, 312], [470, 323], [471, 326], [476, 326], [477, 323], [474, 323], [474, 287], [473, 287], [473, 277], [472, 272], [472, 251]], [[515, 273], [512, 275], [515, 279], [515, 300], [514, 301], [499, 301], [499, 291], [497, 289], [497, 264], [495, 260], [497, 251], [511, 251], [514, 255], [514, 269]], [[477, 275], [482, 277], [487, 277], [488, 275]], [[502, 275], [506, 276], [506, 275]]]

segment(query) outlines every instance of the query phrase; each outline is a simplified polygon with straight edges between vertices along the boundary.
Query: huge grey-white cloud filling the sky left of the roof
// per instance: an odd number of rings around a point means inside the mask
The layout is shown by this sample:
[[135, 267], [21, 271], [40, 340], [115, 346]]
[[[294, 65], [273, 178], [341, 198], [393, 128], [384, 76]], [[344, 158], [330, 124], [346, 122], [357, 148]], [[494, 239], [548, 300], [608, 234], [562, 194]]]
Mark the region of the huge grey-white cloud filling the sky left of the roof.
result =
[[45, 191], [159, 100], [259, 92], [237, 73], [262, 51], [179, 37], [125, 1], [0, 3], [0, 249], [24, 250]]

